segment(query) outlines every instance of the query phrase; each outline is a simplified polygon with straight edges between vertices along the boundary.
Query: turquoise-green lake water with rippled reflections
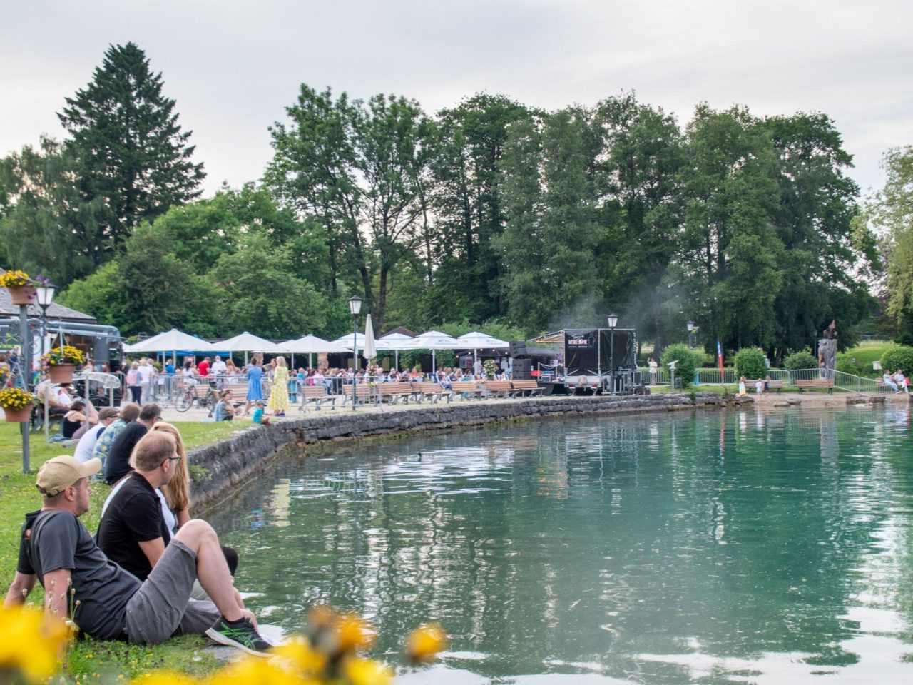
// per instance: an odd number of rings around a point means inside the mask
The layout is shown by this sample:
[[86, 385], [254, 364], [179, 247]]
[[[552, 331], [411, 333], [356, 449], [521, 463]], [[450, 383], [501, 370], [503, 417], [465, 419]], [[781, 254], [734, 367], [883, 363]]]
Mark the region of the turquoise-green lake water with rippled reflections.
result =
[[405, 683], [913, 680], [909, 407], [549, 419], [292, 458], [210, 512], [237, 585]]

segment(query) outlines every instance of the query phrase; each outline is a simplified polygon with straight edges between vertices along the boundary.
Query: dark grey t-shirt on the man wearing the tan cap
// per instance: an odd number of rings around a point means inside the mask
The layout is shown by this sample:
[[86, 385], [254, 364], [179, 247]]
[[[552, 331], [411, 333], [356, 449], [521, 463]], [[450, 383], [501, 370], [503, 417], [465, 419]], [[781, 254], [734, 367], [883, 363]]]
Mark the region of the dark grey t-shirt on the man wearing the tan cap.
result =
[[69, 511], [27, 514], [16, 570], [37, 574], [44, 585], [45, 574], [61, 568], [69, 570], [76, 591], [67, 603], [75, 606], [76, 625], [92, 638], [124, 639], [127, 602], [140, 589], [140, 581], [111, 563]]

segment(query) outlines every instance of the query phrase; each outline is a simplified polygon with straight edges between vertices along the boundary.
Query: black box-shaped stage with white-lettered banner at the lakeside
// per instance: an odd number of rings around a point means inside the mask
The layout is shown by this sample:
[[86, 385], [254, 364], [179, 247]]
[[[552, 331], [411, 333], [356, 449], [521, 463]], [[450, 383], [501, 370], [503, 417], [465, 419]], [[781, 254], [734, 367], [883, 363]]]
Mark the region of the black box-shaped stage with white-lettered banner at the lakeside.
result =
[[[558, 346], [561, 368], [555, 385], [572, 395], [644, 392], [637, 371], [637, 333], [628, 328], [565, 328], [533, 342]], [[561, 393], [555, 387], [553, 392]]]

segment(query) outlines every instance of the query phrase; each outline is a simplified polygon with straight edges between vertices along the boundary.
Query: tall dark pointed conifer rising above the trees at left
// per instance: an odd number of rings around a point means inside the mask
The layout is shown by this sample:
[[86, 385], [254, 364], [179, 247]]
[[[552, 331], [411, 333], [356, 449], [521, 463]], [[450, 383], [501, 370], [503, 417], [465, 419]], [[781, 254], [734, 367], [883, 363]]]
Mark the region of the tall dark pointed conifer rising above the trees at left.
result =
[[134, 43], [111, 46], [89, 85], [58, 114], [86, 167], [83, 195], [105, 207], [108, 250], [120, 248], [143, 219], [200, 195], [203, 164], [191, 162], [191, 132], [181, 131], [162, 86], [162, 74], [152, 74]]

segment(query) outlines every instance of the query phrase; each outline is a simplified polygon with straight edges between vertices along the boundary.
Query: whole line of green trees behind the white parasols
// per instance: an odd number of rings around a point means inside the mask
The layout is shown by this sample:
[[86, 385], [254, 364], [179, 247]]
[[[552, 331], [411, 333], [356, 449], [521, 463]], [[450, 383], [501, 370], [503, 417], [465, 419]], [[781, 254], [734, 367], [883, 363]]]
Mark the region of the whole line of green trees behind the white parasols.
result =
[[[58, 114], [68, 138], [0, 162], [6, 265], [128, 334], [335, 337], [358, 293], [377, 330], [530, 336], [611, 311], [659, 348], [691, 320], [708, 349], [782, 358], [832, 319], [851, 342], [910, 280], [880, 258], [908, 254], [886, 237], [896, 196], [861, 202], [823, 113], [701, 103], [682, 127], [623, 93], [429, 114], [302, 84], [262, 177], [201, 199], [174, 108], [140, 47], [111, 46]], [[913, 303], [891, 307], [900, 330]]]

